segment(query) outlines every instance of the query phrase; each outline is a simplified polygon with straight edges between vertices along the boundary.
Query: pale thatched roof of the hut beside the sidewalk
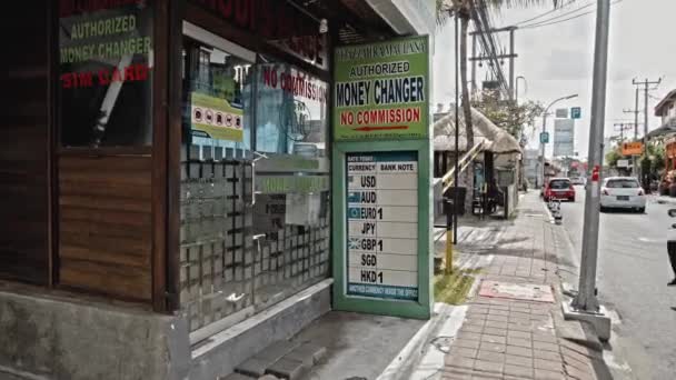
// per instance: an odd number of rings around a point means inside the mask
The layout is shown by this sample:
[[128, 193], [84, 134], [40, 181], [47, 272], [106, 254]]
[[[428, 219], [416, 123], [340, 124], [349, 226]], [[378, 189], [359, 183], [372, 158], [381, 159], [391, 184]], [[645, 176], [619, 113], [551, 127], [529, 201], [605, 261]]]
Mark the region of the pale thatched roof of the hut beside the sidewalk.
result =
[[[521, 153], [518, 141], [506, 130], [494, 124], [484, 113], [471, 109], [471, 121], [474, 127], [474, 143], [488, 140], [488, 151], [494, 153]], [[465, 133], [465, 118], [463, 110], [459, 114], [460, 130], [458, 139], [458, 150], [467, 151], [467, 137]], [[436, 151], [455, 151], [455, 109], [443, 116], [434, 123], [434, 144]]]

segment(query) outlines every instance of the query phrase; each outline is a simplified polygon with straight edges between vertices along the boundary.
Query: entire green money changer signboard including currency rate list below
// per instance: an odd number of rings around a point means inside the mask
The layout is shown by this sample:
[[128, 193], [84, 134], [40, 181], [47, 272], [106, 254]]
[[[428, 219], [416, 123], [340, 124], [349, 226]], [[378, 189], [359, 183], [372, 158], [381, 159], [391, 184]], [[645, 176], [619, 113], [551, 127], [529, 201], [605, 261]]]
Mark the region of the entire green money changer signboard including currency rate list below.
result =
[[428, 319], [428, 38], [342, 47], [334, 57], [334, 308]]

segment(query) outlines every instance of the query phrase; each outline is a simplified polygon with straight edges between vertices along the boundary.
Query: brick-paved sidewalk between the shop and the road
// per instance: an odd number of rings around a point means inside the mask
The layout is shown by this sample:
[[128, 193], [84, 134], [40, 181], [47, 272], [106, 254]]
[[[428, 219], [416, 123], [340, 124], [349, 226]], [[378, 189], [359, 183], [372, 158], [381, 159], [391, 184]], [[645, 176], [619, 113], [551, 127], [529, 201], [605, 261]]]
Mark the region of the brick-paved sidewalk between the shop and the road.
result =
[[[446, 354], [443, 379], [606, 379], [603, 353], [570, 341], [564, 321], [553, 224], [537, 192], [517, 218], [463, 229], [458, 260], [493, 256]], [[486, 224], [485, 224], [486, 226]]]

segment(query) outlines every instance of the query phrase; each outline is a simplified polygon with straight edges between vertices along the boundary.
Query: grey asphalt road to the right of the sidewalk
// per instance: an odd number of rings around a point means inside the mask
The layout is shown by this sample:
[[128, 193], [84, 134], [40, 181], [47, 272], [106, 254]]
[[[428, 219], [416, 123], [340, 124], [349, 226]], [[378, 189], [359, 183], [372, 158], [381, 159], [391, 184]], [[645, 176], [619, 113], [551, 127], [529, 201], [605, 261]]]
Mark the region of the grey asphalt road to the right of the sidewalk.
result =
[[[579, 257], [585, 191], [561, 203], [564, 228]], [[666, 252], [667, 204], [650, 201], [646, 213], [600, 214], [598, 291], [602, 303], [618, 312], [614, 328], [618, 357], [636, 379], [676, 378], [676, 288]], [[674, 207], [672, 207], [674, 208]]]

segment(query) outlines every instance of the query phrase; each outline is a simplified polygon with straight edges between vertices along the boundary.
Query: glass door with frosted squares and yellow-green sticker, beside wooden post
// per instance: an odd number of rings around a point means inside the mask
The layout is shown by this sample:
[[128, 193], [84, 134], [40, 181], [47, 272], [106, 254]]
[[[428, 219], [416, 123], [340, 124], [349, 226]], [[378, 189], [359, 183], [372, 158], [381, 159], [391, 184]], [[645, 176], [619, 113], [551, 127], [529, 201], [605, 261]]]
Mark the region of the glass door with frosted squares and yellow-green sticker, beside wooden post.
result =
[[[252, 312], [256, 54], [183, 26], [180, 302], [191, 341]], [[197, 337], [196, 337], [197, 336]]]

